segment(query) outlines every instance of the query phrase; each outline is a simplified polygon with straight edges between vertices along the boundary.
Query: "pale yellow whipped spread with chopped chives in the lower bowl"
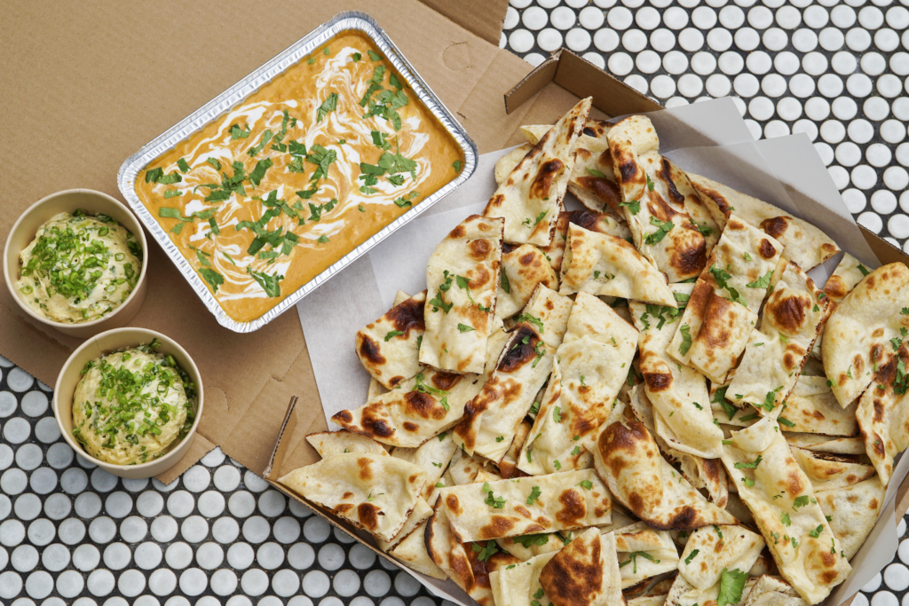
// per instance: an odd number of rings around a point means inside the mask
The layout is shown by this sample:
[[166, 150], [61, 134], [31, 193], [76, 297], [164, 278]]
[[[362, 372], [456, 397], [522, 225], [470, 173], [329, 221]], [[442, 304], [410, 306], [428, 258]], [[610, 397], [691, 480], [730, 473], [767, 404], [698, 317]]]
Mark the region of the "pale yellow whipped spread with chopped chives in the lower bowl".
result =
[[153, 461], [195, 420], [195, 384], [154, 341], [85, 364], [73, 396], [73, 436], [99, 461]]

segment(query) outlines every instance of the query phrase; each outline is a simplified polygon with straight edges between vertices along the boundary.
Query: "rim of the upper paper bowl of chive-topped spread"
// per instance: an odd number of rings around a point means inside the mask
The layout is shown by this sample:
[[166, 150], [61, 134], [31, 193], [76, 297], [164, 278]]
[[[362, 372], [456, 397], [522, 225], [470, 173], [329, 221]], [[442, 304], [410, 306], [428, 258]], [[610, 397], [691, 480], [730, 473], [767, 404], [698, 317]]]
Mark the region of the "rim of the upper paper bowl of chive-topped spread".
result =
[[[129, 293], [129, 296], [126, 297], [126, 299], [123, 303], [120, 303], [119, 305], [117, 305], [116, 309], [113, 312], [107, 313], [106, 315], [103, 315], [100, 318], [96, 318], [95, 320], [90, 320], [88, 322], [77, 322], [77, 323], [56, 322], [55, 320], [51, 320], [50, 318], [45, 318], [43, 315], [35, 313], [35, 310], [33, 310], [31, 308], [31, 306], [27, 305], [25, 303], [25, 301], [23, 301], [22, 293], [19, 293], [19, 289], [17, 289], [15, 287], [15, 283], [18, 282], [18, 276], [12, 276], [12, 275], [10, 275], [10, 272], [9, 272], [9, 255], [11, 253], [11, 250], [10, 250], [11, 244], [13, 243], [13, 234], [16, 233], [20, 229], [23, 219], [25, 219], [25, 217], [27, 215], [34, 213], [39, 207], [47, 204], [51, 200], [54, 200], [57, 197], [61, 197], [64, 195], [70, 195], [70, 194], [95, 195], [98, 198], [100, 198], [101, 200], [103, 200], [105, 203], [114, 204], [115, 206], [119, 207], [120, 210], [124, 211], [127, 216], [132, 217], [132, 219], [135, 221], [135, 229], [131, 226], [122, 224], [120, 221], [117, 221], [117, 224], [123, 225], [125, 228], [127, 228], [129, 230], [129, 232], [133, 233], [133, 235], [135, 235], [139, 239], [139, 242], [142, 244], [142, 268], [139, 273], [139, 279], [136, 281], [135, 287]], [[75, 209], [73, 209], [73, 210], [75, 210]], [[92, 216], [95, 216], [95, 215], [92, 215]], [[51, 217], [47, 217], [45, 219], [45, 222], [48, 221], [50, 218]], [[34, 236], [33, 236], [33, 239], [34, 239]], [[21, 253], [21, 251], [20, 251], [20, 253]], [[18, 266], [18, 263], [16, 264], [16, 266]], [[85, 189], [85, 188], [65, 189], [65, 190], [61, 190], [59, 192], [55, 192], [54, 194], [45, 195], [45, 197], [43, 197], [40, 200], [38, 200], [37, 202], [35, 202], [35, 204], [31, 204], [28, 208], [26, 208], [25, 211], [23, 211], [22, 214], [19, 215], [19, 218], [15, 220], [15, 223], [10, 228], [9, 233], [6, 235], [6, 242], [4, 244], [4, 249], [3, 249], [3, 273], [4, 273], [4, 280], [6, 282], [6, 288], [9, 290], [9, 293], [15, 299], [15, 303], [19, 305], [19, 309], [21, 309], [22, 311], [27, 313], [30, 317], [34, 318], [35, 320], [37, 320], [40, 323], [44, 323], [47, 326], [52, 326], [55, 329], [66, 330], [66, 329], [73, 329], [73, 328], [91, 328], [92, 326], [96, 326], [99, 323], [109, 321], [117, 313], [120, 313], [122, 310], [127, 308], [129, 306], [129, 303], [133, 301], [134, 297], [136, 296], [136, 293], [138, 293], [139, 291], [142, 290], [140, 288], [140, 284], [145, 281], [145, 279], [147, 277], [147, 273], [148, 273], [148, 241], [145, 239], [145, 230], [142, 229], [142, 223], [139, 222], [138, 218], [135, 216], [135, 213], [133, 213], [132, 209], [130, 209], [126, 204], [123, 204], [122, 202], [117, 200], [114, 196], [112, 196], [110, 194], [105, 194], [104, 192], [98, 192], [97, 190], [94, 190], [94, 189]], [[14, 277], [15, 277], [15, 280], [14, 280]], [[101, 334], [101, 333], [99, 333], [99, 334]]]

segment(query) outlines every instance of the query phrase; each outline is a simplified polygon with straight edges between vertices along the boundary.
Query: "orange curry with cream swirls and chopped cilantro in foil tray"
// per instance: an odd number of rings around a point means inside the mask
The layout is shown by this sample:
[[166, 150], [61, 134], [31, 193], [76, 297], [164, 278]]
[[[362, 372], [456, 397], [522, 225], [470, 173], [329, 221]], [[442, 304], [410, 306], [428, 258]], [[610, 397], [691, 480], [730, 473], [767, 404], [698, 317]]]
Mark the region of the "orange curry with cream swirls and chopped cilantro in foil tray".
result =
[[404, 78], [351, 32], [156, 158], [135, 189], [225, 312], [249, 322], [462, 162]]

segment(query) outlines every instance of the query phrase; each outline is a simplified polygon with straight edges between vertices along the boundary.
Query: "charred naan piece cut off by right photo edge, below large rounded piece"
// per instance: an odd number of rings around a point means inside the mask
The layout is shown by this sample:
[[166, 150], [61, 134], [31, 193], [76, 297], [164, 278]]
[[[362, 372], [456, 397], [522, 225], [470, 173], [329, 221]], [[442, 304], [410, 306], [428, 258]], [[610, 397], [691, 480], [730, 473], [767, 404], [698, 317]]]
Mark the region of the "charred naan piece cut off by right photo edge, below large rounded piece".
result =
[[904, 344], [899, 353], [874, 374], [871, 389], [864, 392], [855, 411], [865, 452], [884, 487], [890, 483], [894, 472], [894, 457], [909, 446], [907, 363], [909, 352]]

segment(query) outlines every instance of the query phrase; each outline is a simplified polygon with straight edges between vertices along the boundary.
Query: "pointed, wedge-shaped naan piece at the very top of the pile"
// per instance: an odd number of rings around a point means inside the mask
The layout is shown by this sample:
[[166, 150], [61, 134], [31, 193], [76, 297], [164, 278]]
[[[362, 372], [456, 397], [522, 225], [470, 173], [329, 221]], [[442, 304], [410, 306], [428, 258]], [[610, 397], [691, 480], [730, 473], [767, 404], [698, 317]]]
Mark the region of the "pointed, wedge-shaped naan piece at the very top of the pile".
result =
[[574, 142], [590, 106], [588, 97], [564, 114], [489, 199], [483, 214], [504, 219], [505, 242], [546, 246], [552, 241], [574, 167]]

